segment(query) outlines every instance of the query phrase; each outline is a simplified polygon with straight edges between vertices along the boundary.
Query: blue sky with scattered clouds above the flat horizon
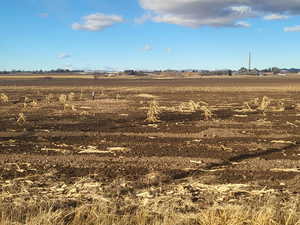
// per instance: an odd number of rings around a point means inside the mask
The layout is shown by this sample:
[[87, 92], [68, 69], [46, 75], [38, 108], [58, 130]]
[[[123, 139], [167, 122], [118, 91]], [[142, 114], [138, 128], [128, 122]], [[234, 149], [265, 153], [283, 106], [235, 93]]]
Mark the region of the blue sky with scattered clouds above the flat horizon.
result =
[[299, 0], [2, 0], [0, 70], [300, 68]]

